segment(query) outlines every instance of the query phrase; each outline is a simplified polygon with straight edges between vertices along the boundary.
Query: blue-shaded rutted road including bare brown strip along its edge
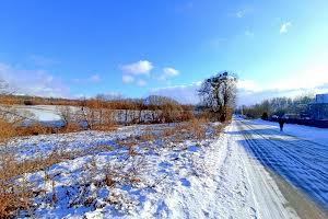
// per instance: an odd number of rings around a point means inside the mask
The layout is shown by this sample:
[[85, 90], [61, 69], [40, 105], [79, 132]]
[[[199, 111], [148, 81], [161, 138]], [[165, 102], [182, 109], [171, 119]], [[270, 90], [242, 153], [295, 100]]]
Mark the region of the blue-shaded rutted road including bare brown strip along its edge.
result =
[[236, 131], [227, 134], [241, 137], [238, 145], [274, 178], [300, 217], [327, 217], [328, 146], [244, 119], [233, 126]]

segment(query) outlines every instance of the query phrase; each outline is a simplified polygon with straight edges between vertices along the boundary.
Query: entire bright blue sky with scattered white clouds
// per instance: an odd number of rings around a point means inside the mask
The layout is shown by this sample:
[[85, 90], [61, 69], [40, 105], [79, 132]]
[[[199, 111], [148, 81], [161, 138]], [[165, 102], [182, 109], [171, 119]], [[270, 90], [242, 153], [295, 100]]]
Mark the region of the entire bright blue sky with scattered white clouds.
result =
[[197, 102], [239, 76], [241, 104], [328, 92], [326, 0], [0, 2], [0, 77], [47, 96], [149, 94]]

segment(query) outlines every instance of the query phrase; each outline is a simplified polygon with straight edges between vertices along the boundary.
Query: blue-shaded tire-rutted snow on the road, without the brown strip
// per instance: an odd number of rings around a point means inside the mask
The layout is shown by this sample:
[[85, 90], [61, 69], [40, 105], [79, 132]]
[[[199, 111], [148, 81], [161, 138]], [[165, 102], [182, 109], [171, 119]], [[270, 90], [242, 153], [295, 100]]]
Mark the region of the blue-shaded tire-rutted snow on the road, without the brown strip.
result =
[[[243, 122], [237, 122], [237, 126], [244, 132], [246, 147], [256, 159], [304, 191], [326, 210], [328, 209], [328, 168], [325, 165], [325, 154], [318, 157], [323, 160], [317, 158], [316, 162], [313, 162], [311, 157], [315, 157], [316, 150], [313, 149], [309, 157], [302, 157], [298, 151], [295, 151], [298, 147], [305, 147], [306, 151], [309, 151], [312, 146], [316, 148], [321, 147], [320, 145], [311, 141], [306, 143], [300, 141], [298, 145], [298, 141], [296, 143], [282, 138], [267, 137]], [[318, 165], [317, 162], [320, 161], [323, 163]]]

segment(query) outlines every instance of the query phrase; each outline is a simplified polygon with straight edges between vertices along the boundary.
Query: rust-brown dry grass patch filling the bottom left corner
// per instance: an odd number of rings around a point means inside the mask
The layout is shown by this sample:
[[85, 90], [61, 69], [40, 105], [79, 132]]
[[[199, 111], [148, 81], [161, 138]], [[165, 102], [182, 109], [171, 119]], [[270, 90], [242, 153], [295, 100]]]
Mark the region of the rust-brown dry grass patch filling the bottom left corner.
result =
[[[71, 158], [72, 154], [54, 151], [46, 158], [19, 162], [13, 152], [5, 152], [4, 148], [0, 154], [0, 218], [13, 217], [22, 209], [30, 210], [35, 194], [27, 182], [21, 182], [25, 173], [46, 171], [52, 164]], [[47, 174], [46, 180], [49, 180]], [[52, 198], [56, 199], [55, 196]]]

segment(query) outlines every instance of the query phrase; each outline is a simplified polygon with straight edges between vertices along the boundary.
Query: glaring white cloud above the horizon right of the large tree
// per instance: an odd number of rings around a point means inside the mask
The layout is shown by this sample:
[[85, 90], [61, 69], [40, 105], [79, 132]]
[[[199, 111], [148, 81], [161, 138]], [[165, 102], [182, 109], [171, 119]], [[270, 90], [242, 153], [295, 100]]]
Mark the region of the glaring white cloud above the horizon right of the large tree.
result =
[[326, 56], [320, 55], [307, 66], [294, 69], [297, 73], [285, 73], [289, 77], [277, 79], [273, 84], [254, 80], [239, 81], [238, 103], [254, 104], [277, 96], [293, 97], [304, 93], [328, 92], [328, 65], [319, 57]]

